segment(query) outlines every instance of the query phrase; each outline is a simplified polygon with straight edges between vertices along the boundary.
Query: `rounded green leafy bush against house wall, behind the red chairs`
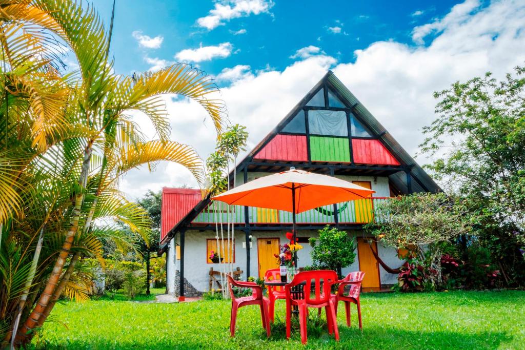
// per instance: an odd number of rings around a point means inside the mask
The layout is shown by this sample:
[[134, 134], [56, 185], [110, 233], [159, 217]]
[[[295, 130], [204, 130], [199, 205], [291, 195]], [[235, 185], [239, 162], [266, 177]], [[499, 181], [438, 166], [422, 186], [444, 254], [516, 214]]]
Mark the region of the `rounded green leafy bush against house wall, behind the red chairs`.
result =
[[310, 238], [313, 264], [320, 269], [337, 271], [341, 276], [341, 269], [350, 266], [355, 259], [353, 238], [337, 227], [325, 226], [319, 230], [319, 238]]

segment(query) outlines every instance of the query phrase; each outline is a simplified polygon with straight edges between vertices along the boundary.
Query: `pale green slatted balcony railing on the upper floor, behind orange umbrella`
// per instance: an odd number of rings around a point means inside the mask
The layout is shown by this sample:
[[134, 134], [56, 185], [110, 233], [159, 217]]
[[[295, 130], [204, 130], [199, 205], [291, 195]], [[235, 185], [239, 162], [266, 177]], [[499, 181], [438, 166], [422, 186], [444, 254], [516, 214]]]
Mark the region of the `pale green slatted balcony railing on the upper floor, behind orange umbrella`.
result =
[[[337, 205], [338, 220], [341, 224], [366, 224], [367, 222], [382, 221], [379, 204], [390, 197], [371, 197], [352, 200]], [[228, 208], [229, 207], [229, 208]], [[229, 209], [229, 210], [228, 210]], [[298, 224], [334, 224], [335, 215], [333, 205], [322, 206], [316, 209], [297, 214]], [[228, 220], [229, 215], [229, 220]], [[277, 209], [248, 207], [250, 224], [291, 224], [292, 213]], [[228, 206], [213, 201], [193, 220], [198, 224], [215, 224], [215, 222], [230, 222], [244, 224], [244, 206]]]

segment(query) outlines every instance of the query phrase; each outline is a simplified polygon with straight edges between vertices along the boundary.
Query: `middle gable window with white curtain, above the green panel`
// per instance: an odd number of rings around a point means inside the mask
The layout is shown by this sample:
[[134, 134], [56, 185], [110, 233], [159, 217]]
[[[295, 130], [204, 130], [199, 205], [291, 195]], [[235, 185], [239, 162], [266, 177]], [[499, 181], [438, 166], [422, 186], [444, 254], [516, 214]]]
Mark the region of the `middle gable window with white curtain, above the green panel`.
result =
[[348, 136], [346, 113], [343, 111], [308, 111], [310, 134], [329, 136]]

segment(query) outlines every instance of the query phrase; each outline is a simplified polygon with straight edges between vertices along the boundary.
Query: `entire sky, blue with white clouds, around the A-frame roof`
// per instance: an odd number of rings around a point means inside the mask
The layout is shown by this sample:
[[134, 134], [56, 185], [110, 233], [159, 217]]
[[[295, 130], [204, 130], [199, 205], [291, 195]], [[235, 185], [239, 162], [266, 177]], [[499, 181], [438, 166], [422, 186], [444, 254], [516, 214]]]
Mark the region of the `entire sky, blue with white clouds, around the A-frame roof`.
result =
[[[95, 0], [109, 24], [111, 0]], [[216, 79], [232, 123], [253, 148], [319, 79], [332, 70], [420, 164], [422, 129], [435, 119], [433, 92], [525, 64], [523, 0], [453, 1], [138, 1], [117, 0], [111, 47], [115, 70], [154, 71], [188, 62]], [[165, 97], [172, 140], [213, 152], [204, 110]], [[151, 139], [144, 115], [132, 118]], [[125, 175], [130, 198], [163, 186], [196, 186], [182, 166]], [[442, 184], [444, 185], [444, 184]]]

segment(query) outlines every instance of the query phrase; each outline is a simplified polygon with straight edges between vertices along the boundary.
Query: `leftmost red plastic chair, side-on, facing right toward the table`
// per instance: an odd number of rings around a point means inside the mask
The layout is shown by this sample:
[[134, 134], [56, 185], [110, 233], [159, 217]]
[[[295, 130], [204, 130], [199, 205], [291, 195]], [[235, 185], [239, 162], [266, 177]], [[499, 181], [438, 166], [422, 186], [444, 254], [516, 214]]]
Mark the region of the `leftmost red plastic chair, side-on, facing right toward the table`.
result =
[[[226, 273], [228, 278], [228, 289], [232, 296], [232, 315], [230, 316], [230, 333], [235, 336], [235, 323], [237, 321], [237, 311], [240, 307], [247, 305], [259, 305], [261, 309], [262, 328], [265, 328], [266, 335], [270, 336], [270, 321], [268, 317], [268, 299], [263, 298], [262, 288], [255, 282], [240, 282], [233, 279], [232, 276]], [[233, 293], [232, 286], [239, 288], [251, 288], [252, 293], [250, 296], [243, 296], [242, 298], [236, 298]]]

